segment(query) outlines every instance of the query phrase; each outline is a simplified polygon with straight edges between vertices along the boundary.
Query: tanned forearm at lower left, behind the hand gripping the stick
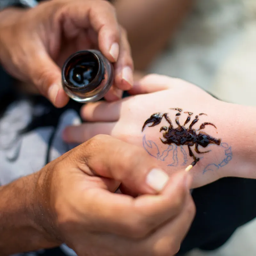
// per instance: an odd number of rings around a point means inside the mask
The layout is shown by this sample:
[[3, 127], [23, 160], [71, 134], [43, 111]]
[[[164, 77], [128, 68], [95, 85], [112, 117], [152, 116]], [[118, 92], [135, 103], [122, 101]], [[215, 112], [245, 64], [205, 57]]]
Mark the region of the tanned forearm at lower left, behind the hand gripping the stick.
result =
[[3, 256], [56, 246], [36, 223], [36, 219], [42, 217], [36, 199], [37, 176], [38, 173], [32, 174], [0, 187], [0, 252]]

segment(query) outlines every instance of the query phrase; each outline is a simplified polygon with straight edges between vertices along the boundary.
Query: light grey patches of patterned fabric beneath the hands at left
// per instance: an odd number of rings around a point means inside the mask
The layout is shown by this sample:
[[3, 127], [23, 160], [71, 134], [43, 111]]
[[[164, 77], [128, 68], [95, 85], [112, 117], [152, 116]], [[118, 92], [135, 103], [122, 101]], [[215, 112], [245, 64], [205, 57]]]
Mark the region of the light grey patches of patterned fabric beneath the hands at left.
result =
[[[5, 111], [0, 120], [1, 185], [39, 171], [44, 167], [49, 140], [55, 128], [38, 127], [28, 133], [22, 133], [22, 130], [28, 126], [32, 117], [42, 116], [47, 111], [48, 109], [40, 104], [33, 107], [27, 100], [13, 102]], [[61, 139], [61, 133], [66, 125], [79, 122], [80, 118], [76, 111], [69, 109], [63, 112], [54, 132], [49, 150], [49, 161], [75, 146], [64, 143]], [[74, 253], [68, 253], [67, 248], [65, 252], [67, 255], [74, 255]]]

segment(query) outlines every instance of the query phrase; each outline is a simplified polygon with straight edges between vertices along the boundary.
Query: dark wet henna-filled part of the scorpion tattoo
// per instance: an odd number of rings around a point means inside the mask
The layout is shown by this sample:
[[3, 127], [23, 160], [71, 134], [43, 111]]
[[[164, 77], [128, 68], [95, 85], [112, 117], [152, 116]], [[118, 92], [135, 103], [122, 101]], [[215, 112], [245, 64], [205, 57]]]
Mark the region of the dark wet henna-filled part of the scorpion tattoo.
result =
[[190, 123], [190, 125], [188, 126], [188, 128], [186, 128], [185, 125], [190, 122], [191, 116], [193, 115], [193, 113], [192, 112], [184, 112], [185, 114], [188, 114], [188, 117], [187, 117], [186, 121], [184, 122], [184, 124], [181, 125], [179, 122], [179, 116], [181, 115], [181, 112], [183, 110], [181, 108], [170, 108], [170, 109], [178, 111], [178, 113], [176, 114], [176, 118], [175, 118], [175, 123], [178, 125], [177, 128], [173, 128], [172, 121], [168, 117], [167, 113], [164, 113], [164, 114], [155, 113], [145, 121], [145, 123], [142, 127], [142, 132], [144, 131], [144, 129], [146, 128], [146, 126], [148, 124], [149, 124], [148, 127], [153, 127], [153, 126], [160, 124], [164, 117], [165, 120], [167, 121], [167, 123], [169, 124], [169, 127], [162, 126], [160, 128], [160, 132], [164, 131], [164, 133], [163, 133], [164, 138], [163, 139], [160, 138], [160, 140], [162, 141], [162, 143], [168, 144], [168, 145], [171, 145], [172, 143], [176, 144], [177, 146], [187, 145], [189, 156], [193, 157], [193, 159], [194, 159], [194, 161], [191, 163], [191, 165], [195, 166], [196, 163], [200, 160], [200, 158], [198, 158], [194, 155], [194, 153], [191, 150], [192, 146], [195, 145], [195, 151], [197, 154], [204, 154], [204, 153], [209, 152], [210, 150], [200, 152], [198, 149], [198, 146], [206, 148], [209, 144], [220, 145], [220, 143], [221, 143], [221, 139], [215, 139], [212, 136], [210, 136], [209, 134], [207, 134], [203, 131], [200, 131], [200, 130], [203, 130], [206, 125], [211, 125], [211, 126], [215, 127], [216, 129], [217, 129], [217, 127], [212, 123], [206, 122], [206, 123], [203, 123], [200, 125], [199, 129], [197, 130], [200, 132], [197, 133], [197, 131], [195, 129], [193, 129], [193, 126], [198, 122], [199, 116], [206, 115], [206, 114], [200, 113], [199, 115], [196, 115], [195, 119], [193, 119], [192, 122]]

